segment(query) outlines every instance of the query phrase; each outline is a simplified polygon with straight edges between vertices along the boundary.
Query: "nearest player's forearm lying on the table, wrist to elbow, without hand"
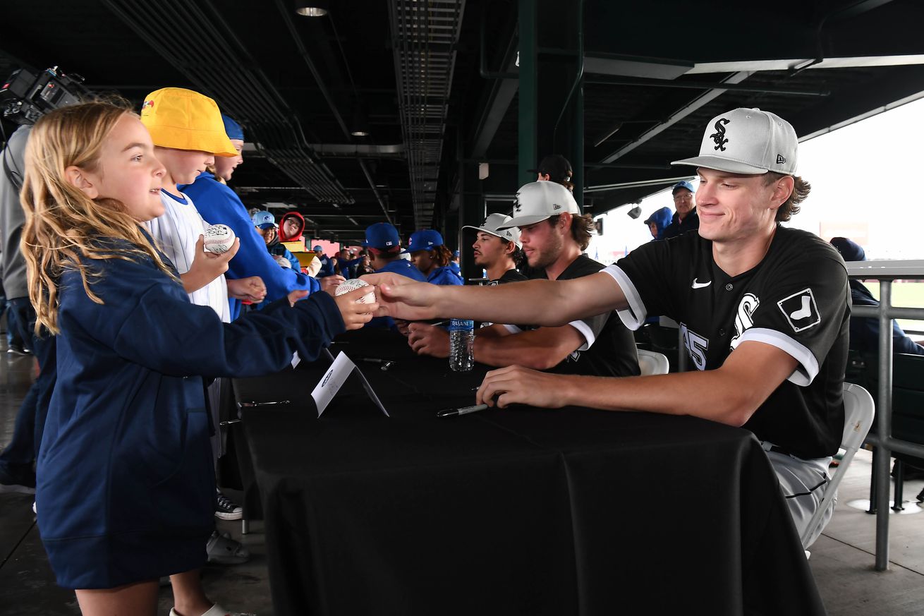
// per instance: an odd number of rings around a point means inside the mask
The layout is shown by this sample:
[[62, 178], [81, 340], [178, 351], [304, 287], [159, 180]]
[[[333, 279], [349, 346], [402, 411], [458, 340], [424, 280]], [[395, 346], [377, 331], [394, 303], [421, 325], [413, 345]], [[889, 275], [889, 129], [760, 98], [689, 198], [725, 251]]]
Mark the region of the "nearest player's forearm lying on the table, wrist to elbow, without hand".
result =
[[719, 370], [657, 376], [568, 376], [565, 400], [604, 411], [647, 411], [693, 415], [727, 425], [744, 425], [766, 398], [732, 382]]

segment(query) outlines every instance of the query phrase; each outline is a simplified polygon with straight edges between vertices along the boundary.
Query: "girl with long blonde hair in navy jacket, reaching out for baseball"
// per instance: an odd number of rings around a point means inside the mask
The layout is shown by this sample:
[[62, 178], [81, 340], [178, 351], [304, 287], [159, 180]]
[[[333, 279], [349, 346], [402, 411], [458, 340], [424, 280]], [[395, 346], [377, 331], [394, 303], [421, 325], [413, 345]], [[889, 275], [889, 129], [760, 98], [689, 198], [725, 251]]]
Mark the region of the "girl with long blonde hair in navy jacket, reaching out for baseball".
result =
[[153, 152], [138, 116], [108, 103], [48, 114], [26, 151], [21, 248], [58, 349], [38, 524], [85, 616], [153, 616], [158, 578], [205, 562], [214, 477], [201, 376], [272, 373], [295, 351], [313, 359], [376, 307], [356, 303], [362, 290], [315, 293], [223, 324], [189, 303], [140, 225], [164, 211]]

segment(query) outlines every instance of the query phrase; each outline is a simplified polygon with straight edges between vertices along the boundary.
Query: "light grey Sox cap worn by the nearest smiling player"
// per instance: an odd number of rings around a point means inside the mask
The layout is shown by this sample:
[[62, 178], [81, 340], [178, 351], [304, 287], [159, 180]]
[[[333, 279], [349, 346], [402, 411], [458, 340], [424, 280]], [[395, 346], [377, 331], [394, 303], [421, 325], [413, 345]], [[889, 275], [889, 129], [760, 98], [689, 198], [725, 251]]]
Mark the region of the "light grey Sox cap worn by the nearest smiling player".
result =
[[796, 175], [796, 130], [769, 111], [739, 107], [713, 117], [699, 145], [699, 156], [672, 165], [757, 175], [773, 171]]

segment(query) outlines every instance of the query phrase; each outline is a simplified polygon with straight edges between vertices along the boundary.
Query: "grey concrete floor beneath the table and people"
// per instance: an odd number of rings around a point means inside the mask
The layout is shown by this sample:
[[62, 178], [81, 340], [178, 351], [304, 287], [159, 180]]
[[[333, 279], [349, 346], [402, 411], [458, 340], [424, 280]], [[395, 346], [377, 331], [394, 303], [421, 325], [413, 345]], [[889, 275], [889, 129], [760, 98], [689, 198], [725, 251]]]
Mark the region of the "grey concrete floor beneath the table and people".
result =
[[[19, 400], [33, 376], [34, 361], [6, 353], [0, 341], [0, 443], [12, 436]], [[860, 451], [841, 485], [831, 524], [811, 548], [812, 572], [831, 616], [918, 616], [924, 614], [924, 513], [893, 514], [887, 572], [873, 571], [875, 516], [847, 505], [869, 498], [871, 455]], [[908, 481], [905, 499], [914, 501], [924, 481]], [[229, 496], [236, 496], [228, 492]], [[55, 585], [31, 511], [32, 498], [0, 494], [0, 614], [70, 616], [79, 614], [72, 592]], [[240, 535], [237, 522], [218, 523], [249, 548], [249, 562], [203, 570], [206, 592], [226, 609], [270, 616], [266, 547], [260, 523]], [[161, 589], [159, 614], [173, 605], [170, 588]], [[360, 616], [360, 615], [358, 615]]]

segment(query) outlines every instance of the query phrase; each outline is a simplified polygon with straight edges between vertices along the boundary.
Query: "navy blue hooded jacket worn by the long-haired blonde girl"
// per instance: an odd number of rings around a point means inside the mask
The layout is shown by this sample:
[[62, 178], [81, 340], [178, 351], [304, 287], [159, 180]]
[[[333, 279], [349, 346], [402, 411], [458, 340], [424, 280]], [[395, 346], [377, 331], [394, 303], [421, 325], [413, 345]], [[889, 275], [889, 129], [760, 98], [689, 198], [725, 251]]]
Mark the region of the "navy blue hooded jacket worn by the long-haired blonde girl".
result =
[[[110, 240], [114, 250], [124, 241]], [[60, 282], [58, 378], [38, 460], [38, 524], [57, 582], [108, 588], [205, 562], [214, 476], [201, 376], [315, 359], [343, 320], [327, 293], [223, 324], [150, 259], [97, 260], [90, 300]], [[274, 267], [279, 268], [274, 264]]]

